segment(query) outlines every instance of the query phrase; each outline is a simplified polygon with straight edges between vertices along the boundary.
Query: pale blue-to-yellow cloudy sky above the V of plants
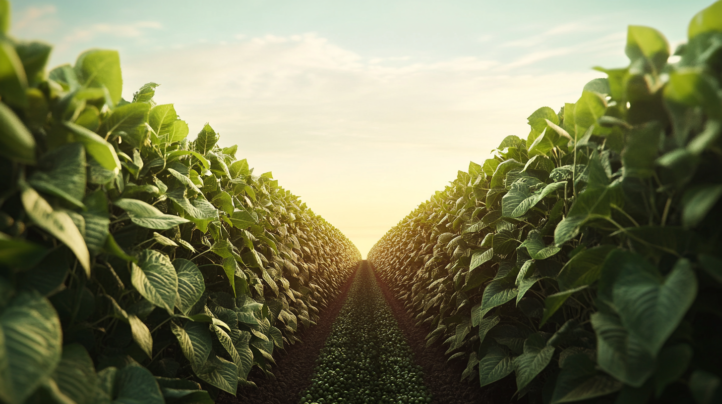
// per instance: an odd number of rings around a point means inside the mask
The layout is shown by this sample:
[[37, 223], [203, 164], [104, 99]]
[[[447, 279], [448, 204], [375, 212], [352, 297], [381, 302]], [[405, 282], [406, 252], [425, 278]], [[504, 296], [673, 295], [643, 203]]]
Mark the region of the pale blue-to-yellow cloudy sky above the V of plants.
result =
[[[123, 97], [147, 82], [191, 133], [206, 122], [362, 255], [539, 107], [627, 66], [628, 25], [672, 50], [712, 1], [23, 0], [11, 33], [50, 66], [121, 54]], [[194, 135], [191, 134], [192, 139]]]

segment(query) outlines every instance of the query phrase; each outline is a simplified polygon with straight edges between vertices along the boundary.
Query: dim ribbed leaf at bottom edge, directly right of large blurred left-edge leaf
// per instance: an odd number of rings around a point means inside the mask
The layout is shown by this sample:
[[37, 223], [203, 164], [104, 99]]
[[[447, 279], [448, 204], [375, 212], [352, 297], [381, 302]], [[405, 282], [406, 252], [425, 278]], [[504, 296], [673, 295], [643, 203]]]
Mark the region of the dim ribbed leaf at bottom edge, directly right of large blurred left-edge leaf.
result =
[[52, 377], [58, 389], [76, 404], [95, 403], [100, 393], [95, 366], [79, 343], [63, 347], [62, 359]]

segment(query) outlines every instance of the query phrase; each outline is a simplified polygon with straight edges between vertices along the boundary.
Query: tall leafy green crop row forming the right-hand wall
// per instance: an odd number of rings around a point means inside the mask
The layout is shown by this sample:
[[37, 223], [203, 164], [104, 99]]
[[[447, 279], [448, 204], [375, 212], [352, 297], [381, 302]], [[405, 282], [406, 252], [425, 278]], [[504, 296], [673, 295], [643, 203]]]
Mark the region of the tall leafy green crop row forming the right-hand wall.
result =
[[530, 402], [722, 400], [721, 15], [676, 61], [630, 26], [630, 66], [536, 110], [373, 247], [465, 378], [513, 374]]

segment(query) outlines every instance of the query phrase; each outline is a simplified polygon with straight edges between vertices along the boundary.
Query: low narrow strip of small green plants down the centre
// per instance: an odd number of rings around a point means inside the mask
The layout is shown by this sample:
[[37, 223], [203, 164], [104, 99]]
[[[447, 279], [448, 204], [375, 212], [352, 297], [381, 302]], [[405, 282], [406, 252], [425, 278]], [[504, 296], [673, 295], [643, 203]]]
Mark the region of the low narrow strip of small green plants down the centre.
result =
[[360, 265], [318, 357], [301, 403], [430, 403], [391, 307], [371, 268]]

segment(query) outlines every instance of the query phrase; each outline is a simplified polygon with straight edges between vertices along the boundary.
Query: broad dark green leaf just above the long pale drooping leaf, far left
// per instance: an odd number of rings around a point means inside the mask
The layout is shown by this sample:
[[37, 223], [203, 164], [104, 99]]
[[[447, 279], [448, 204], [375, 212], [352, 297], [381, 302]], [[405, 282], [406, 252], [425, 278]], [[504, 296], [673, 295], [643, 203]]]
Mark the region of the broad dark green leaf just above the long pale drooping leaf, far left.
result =
[[39, 162], [40, 170], [28, 180], [32, 188], [64, 198], [79, 208], [85, 208], [85, 150], [81, 144], [66, 144], [48, 151]]

